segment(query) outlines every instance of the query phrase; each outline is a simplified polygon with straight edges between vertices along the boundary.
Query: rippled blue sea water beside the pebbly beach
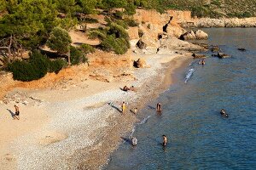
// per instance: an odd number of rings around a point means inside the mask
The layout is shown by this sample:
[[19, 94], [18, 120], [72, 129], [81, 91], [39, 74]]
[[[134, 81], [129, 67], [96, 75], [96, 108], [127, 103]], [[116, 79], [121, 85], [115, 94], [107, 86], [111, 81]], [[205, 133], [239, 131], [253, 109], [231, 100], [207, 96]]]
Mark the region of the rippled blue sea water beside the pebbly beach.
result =
[[[205, 31], [209, 44], [232, 57], [209, 57], [205, 66], [194, 60], [177, 71], [177, 82], [140, 115], [138, 145], [120, 144], [105, 169], [256, 169], [256, 28]], [[162, 115], [152, 109], [157, 102]], [[219, 115], [222, 108], [229, 118]]]

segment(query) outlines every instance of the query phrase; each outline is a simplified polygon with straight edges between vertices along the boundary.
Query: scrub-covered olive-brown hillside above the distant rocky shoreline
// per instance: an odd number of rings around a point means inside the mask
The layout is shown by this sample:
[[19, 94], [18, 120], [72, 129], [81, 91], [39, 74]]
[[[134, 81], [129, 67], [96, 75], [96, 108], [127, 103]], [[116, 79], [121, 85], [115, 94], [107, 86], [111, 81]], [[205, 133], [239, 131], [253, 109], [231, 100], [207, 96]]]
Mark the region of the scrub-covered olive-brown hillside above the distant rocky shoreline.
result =
[[198, 17], [250, 17], [256, 15], [256, 0], [166, 0], [166, 8], [189, 9]]

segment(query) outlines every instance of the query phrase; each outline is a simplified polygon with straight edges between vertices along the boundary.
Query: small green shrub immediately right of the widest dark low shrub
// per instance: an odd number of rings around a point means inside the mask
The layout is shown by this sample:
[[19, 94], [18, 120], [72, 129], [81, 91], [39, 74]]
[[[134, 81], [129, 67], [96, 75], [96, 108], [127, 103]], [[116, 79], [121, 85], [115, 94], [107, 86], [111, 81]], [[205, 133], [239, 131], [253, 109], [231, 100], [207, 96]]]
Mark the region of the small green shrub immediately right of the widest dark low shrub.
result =
[[70, 60], [72, 65], [79, 65], [79, 63], [86, 62], [83, 52], [79, 48], [70, 47]]

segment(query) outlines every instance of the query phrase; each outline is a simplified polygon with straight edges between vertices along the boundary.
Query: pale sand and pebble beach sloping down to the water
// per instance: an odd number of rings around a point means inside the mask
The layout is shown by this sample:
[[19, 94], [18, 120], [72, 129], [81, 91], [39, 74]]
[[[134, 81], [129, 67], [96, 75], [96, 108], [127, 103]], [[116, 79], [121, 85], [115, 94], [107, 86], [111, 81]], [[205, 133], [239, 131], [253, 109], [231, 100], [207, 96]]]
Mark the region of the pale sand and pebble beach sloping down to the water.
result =
[[[150, 68], [137, 69], [136, 81], [86, 80], [65, 91], [15, 89], [43, 102], [20, 105], [19, 121], [10, 114], [14, 104], [0, 104], [0, 169], [101, 168], [122, 141], [120, 136], [137, 122], [130, 111], [121, 115], [122, 101], [129, 109], [142, 109], [172, 83], [172, 72], [190, 59], [169, 51], [143, 57]], [[121, 91], [125, 85], [134, 85], [137, 91]]]

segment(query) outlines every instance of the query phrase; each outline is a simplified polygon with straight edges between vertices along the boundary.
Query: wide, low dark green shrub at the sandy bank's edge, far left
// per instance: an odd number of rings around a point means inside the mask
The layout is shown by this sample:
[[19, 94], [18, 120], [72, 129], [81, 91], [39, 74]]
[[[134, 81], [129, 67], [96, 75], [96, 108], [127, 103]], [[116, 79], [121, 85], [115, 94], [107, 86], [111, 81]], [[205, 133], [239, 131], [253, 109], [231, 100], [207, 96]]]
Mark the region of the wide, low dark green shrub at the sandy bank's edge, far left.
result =
[[59, 72], [66, 63], [67, 62], [62, 59], [51, 61], [40, 52], [33, 51], [30, 54], [30, 59], [27, 61], [15, 60], [8, 65], [7, 69], [8, 71], [13, 72], [15, 80], [30, 82], [44, 77], [48, 71]]

